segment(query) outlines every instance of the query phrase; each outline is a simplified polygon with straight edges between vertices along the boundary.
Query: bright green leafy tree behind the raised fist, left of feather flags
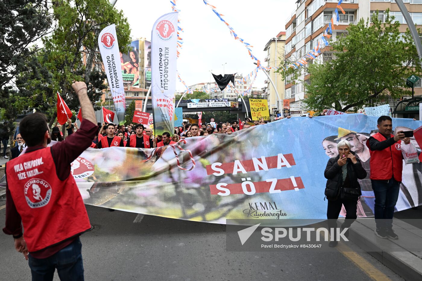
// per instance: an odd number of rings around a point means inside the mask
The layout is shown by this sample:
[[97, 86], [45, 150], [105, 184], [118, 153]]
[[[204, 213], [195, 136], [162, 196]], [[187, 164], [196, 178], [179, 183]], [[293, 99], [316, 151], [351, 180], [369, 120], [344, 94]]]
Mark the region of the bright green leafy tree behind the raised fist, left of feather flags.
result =
[[101, 30], [116, 24], [117, 39], [122, 52], [130, 43], [130, 28], [122, 11], [108, 0], [54, 0], [51, 7], [56, 28], [43, 38], [40, 49], [27, 63], [17, 84], [27, 106], [36, 107], [51, 117], [56, 116], [56, 92], [71, 110], [78, 111], [79, 101], [71, 89], [73, 81], [85, 81], [88, 96], [96, 102], [106, 89], [106, 74], [98, 51]]

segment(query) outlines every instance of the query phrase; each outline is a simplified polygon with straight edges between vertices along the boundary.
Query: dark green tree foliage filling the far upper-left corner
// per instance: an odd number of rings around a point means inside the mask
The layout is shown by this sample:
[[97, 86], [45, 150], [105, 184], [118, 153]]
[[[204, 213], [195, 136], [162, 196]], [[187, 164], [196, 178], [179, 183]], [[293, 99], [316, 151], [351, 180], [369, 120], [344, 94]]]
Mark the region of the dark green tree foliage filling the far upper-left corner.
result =
[[14, 120], [23, 108], [15, 79], [35, 48], [29, 46], [51, 28], [45, 0], [0, 1], [0, 119]]

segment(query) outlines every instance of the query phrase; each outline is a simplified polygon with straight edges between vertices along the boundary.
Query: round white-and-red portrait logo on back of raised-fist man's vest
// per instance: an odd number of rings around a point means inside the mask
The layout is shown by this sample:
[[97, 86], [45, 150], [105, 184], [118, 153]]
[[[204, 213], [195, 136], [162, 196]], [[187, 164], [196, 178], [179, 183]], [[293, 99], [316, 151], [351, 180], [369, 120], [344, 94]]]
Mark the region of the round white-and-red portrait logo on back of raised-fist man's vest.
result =
[[31, 178], [24, 185], [24, 194], [30, 208], [40, 208], [49, 203], [51, 186], [41, 178]]

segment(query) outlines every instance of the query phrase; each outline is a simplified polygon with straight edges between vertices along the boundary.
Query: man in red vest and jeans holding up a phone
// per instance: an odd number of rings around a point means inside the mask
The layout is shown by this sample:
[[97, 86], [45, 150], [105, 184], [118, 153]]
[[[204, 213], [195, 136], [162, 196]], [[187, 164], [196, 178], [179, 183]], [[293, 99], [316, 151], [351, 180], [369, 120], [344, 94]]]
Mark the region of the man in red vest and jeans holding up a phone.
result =
[[375, 234], [380, 238], [398, 239], [392, 230], [394, 207], [400, 191], [403, 156], [401, 140], [410, 143], [403, 131], [392, 135], [392, 119], [390, 116], [378, 118], [379, 132], [368, 138], [366, 146], [371, 158], [371, 184], [375, 194]]

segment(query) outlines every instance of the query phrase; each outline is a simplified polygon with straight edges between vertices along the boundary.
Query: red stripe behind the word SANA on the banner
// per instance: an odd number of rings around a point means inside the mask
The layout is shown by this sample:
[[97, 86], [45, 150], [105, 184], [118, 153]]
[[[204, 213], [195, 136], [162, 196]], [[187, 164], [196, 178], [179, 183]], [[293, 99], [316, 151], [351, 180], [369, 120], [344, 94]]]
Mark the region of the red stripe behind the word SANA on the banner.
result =
[[[283, 156], [286, 158], [287, 162], [289, 162], [290, 166], [296, 165], [295, 163], [295, 159], [293, 158], [293, 154], [289, 153], [289, 154], [283, 154]], [[277, 168], [277, 158], [278, 156], [271, 156], [271, 157], [264, 157], [265, 158], [265, 162], [267, 162], [267, 166], [268, 169], [273, 169], [273, 168]], [[261, 158], [257, 158], [258, 162], [262, 162]], [[254, 166], [254, 162], [251, 160], [243, 160], [243, 161], [239, 161], [240, 164], [242, 165], [242, 167], [246, 170], [246, 172], [251, 172], [255, 170], [255, 166]], [[281, 160], [281, 162], [283, 162], [283, 160]], [[215, 164], [215, 163], [214, 163]], [[224, 173], [233, 173], [233, 168], [234, 168], [235, 162], [230, 162], [230, 163], [223, 163], [221, 165], [216, 165], [214, 167], [214, 170], [212, 168], [212, 165], [207, 165], [206, 169], [207, 169], [207, 175], [212, 175], [213, 173], [218, 173], [218, 171], [220, 171], [220, 169], [224, 170]], [[282, 166], [285, 167], [285, 166]], [[238, 167], [240, 168], [240, 167]], [[263, 170], [261, 167], [257, 167], [259, 170]], [[217, 170], [218, 169], [218, 170]], [[237, 173], [242, 173], [242, 172], [237, 172]]]

